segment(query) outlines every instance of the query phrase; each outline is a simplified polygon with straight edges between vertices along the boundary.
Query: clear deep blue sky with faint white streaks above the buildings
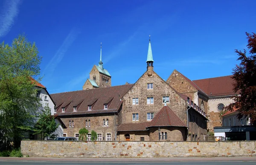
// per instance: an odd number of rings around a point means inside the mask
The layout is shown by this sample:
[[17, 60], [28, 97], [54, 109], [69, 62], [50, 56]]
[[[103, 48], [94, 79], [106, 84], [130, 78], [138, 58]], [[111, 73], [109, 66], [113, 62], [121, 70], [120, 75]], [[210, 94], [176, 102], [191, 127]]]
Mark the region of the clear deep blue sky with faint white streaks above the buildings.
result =
[[226, 76], [256, 32], [255, 0], [1, 0], [0, 42], [25, 33], [43, 57], [41, 83], [50, 94], [81, 90], [94, 64], [112, 86], [146, 71], [148, 35], [154, 71], [190, 80]]

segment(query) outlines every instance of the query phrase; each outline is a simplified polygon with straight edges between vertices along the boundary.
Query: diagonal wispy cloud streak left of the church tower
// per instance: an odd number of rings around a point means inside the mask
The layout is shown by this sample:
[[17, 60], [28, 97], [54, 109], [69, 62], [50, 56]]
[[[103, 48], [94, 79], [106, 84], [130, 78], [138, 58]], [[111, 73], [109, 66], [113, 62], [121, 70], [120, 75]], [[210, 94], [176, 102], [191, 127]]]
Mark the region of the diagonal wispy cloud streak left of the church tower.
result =
[[47, 76], [50, 76], [49, 74], [52, 74], [55, 70], [58, 63], [61, 62], [62, 58], [64, 57], [65, 53], [67, 52], [68, 48], [72, 45], [74, 40], [76, 40], [76, 37], [78, 36], [80, 32], [73, 28], [65, 38], [64, 42], [62, 43], [61, 47], [58, 48], [57, 52], [52, 57], [51, 61], [47, 64], [47, 66], [44, 69], [44, 73], [48, 73]]

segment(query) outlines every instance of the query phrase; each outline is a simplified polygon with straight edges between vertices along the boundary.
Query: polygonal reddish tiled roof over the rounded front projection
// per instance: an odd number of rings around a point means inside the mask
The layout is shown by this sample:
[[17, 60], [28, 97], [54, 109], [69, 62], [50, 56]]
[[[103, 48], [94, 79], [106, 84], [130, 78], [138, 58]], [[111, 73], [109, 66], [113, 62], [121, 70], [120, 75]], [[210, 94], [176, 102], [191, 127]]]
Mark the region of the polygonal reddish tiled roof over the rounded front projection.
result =
[[169, 108], [169, 106], [163, 106], [163, 108], [156, 114], [156, 116], [148, 123], [147, 127], [154, 126], [179, 126], [186, 127], [185, 123], [177, 117], [177, 115]]

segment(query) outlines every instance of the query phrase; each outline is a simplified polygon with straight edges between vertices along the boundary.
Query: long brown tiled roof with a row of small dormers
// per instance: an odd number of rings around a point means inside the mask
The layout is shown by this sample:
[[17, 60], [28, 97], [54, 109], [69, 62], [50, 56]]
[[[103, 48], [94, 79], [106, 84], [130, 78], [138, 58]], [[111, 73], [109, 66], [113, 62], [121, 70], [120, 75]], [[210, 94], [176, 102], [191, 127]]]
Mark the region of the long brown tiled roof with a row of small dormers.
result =
[[[117, 112], [122, 105], [120, 100], [133, 84], [119, 85], [107, 88], [95, 88], [81, 91], [71, 91], [51, 94], [56, 103], [56, 115], [76, 115], [76, 114], [100, 114]], [[108, 109], [104, 109], [104, 104], [108, 104]], [[88, 105], [92, 110], [88, 110]], [[74, 111], [76, 106], [76, 111]], [[65, 108], [65, 112], [62, 112]]]

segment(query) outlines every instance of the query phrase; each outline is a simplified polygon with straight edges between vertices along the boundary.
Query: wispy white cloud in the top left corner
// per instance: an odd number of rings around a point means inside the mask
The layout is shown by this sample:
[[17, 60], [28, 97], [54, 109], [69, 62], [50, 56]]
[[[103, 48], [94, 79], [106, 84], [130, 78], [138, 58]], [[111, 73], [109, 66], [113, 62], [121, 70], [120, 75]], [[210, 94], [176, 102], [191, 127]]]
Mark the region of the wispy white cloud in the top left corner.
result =
[[0, 9], [0, 38], [4, 37], [12, 28], [15, 18], [19, 14], [20, 0], [6, 0]]

